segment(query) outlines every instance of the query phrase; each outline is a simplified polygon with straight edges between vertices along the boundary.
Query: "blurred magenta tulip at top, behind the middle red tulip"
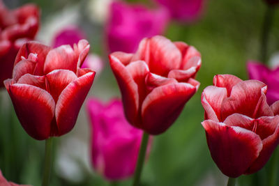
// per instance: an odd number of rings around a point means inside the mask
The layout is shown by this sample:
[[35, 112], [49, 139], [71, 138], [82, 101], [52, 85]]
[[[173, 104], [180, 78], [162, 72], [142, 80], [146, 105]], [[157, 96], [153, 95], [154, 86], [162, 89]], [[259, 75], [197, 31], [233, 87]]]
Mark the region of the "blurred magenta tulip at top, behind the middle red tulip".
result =
[[162, 34], [169, 15], [165, 8], [149, 10], [140, 4], [114, 1], [106, 25], [105, 39], [110, 52], [135, 52], [145, 37]]

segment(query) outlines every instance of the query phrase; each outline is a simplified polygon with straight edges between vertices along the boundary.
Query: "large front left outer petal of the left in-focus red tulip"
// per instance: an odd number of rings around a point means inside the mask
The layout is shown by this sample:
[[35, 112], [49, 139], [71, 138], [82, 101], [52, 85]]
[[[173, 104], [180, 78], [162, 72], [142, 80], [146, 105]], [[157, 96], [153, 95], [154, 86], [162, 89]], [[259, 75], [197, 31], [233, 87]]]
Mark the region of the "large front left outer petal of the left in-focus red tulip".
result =
[[27, 84], [9, 86], [10, 98], [24, 130], [34, 139], [50, 137], [55, 102], [47, 91]]

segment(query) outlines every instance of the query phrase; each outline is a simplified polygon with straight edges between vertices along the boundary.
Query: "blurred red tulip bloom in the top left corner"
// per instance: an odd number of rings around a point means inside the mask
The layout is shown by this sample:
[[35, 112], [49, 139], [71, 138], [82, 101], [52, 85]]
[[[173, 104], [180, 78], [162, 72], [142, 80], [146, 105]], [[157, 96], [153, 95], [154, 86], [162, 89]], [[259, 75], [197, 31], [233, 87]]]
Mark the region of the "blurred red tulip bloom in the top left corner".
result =
[[8, 10], [0, 1], [0, 87], [12, 77], [15, 56], [24, 42], [38, 31], [39, 9], [32, 5]]

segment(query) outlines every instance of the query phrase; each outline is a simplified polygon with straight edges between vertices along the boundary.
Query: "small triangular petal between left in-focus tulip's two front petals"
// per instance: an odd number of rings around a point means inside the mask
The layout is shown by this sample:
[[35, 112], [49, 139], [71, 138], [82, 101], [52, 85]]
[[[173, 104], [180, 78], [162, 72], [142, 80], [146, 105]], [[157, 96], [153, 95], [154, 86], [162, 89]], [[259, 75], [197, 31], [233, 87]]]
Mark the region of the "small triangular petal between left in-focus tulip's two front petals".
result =
[[52, 98], [57, 102], [61, 92], [70, 84], [75, 81], [77, 76], [70, 70], [53, 70], [45, 75], [47, 82], [47, 91], [52, 95]]

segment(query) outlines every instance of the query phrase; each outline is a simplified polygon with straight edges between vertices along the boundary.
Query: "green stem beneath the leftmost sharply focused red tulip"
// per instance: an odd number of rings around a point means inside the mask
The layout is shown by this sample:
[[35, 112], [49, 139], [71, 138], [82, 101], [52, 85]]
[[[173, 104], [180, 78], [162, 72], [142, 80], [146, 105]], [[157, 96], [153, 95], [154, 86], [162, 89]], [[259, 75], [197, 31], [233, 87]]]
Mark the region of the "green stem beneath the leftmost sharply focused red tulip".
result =
[[52, 137], [45, 140], [45, 160], [44, 160], [42, 186], [48, 186], [50, 184], [51, 169], [52, 169]]

